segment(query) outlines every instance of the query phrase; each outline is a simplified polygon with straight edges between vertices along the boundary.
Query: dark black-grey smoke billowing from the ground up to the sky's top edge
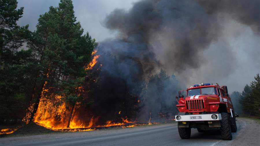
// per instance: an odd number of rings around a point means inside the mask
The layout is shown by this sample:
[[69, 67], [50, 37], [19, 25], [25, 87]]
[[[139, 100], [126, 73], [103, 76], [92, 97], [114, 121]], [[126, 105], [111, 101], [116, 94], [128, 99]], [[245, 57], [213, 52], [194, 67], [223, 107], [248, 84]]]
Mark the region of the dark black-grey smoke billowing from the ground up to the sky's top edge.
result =
[[[94, 107], [105, 108], [106, 112], [96, 114], [113, 117], [125, 109], [124, 115], [133, 119], [138, 119], [136, 115], [149, 119], [150, 113], [158, 117], [164, 106], [169, 109], [174, 105], [177, 89], [187, 81], [196, 81], [189, 78], [190, 71], [207, 66], [205, 59], [209, 56], [218, 58], [206, 70], [218, 67], [221, 71], [210, 72], [210, 77], [222, 76], [222, 72], [228, 76], [236, 57], [229, 44], [220, 39], [223, 27], [227, 21], [236, 21], [259, 35], [259, 14], [259, 0], [143, 0], [130, 10], [114, 10], [103, 24], [118, 35], [97, 47], [102, 67], [94, 89], [99, 104]], [[221, 47], [218, 56], [214, 51], [205, 54], [212, 44]], [[185, 79], [177, 81], [173, 73]], [[196, 74], [200, 78], [204, 75]], [[204, 79], [211, 81], [208, 77]]]

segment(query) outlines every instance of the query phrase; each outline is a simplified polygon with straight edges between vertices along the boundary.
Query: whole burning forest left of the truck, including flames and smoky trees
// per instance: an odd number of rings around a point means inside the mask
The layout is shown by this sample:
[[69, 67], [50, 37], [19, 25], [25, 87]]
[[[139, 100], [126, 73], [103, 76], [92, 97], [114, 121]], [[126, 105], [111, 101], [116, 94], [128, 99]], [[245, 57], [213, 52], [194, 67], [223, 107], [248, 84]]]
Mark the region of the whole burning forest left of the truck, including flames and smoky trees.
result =
[[[53, 129], [87, 128], [174, 115], [173, 97], [179, 89], [175, 76], [164, 70], [146, 77], [135, 72], [128, 77], [130, 85], [102, 70], [110, 67], [102, 58], [115, 66], [120, 60], [96, 55], [98, 43], [83, 34], [72, 1], [50, 7], [33, 32], [28, 25], [17, 25], [23, 8], [17, 9], [16, 0], [1, 3], [2, 125], [36, 122]], [[116, 74], [123, 74], [115, 68]]]

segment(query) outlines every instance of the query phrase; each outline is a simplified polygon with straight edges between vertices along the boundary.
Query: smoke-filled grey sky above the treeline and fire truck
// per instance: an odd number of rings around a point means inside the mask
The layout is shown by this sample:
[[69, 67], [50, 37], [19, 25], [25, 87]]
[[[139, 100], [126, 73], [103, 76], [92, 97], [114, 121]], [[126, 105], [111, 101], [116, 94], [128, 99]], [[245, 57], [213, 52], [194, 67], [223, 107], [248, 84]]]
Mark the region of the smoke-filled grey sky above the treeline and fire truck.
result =
[[145, 78], [163, 69], [187, 87], [219, 83], [241, 91], [260, 72], [259, 15], [259, 0], [139, 1], [104, 19], [118, 35], [99, 49], [129, 65], [127, 74]]

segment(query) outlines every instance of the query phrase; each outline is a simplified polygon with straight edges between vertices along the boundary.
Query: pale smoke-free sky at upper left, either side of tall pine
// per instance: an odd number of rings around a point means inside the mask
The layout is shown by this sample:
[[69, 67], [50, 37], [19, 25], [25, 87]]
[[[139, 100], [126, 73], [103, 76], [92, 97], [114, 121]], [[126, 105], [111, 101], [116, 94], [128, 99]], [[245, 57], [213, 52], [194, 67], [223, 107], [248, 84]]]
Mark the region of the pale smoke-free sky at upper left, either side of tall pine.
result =
[[[87, 31], [97, 42], [115, 35], [102, 25], [107, 14], [116, 8], [128, 10], [133, 3], [139, 0], [77, 0], [73, 1], [75, 16], [80, 21], [84, 33]], [[49, 11], [50, 6], [57, 7], [60, 0], [18, 0], [18, 8], [24, 7], [23, 17], [18, 25], [29, 24], [29, 29], [34, 31], [40, 14]]]

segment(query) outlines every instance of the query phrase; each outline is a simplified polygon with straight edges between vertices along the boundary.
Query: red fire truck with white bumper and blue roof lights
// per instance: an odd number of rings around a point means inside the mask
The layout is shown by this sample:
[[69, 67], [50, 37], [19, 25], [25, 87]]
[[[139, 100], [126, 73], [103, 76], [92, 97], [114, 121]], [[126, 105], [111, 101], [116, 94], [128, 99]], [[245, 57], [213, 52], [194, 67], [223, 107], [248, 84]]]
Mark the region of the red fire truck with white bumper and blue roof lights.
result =
[[220, 129], [223, 140], [231, 140], [232, 132], [237, 132], [235, 111], [226, 86], [201, 83], [176, 96], [179, 135], [190, 138], [191, 128], [198, 132]]

